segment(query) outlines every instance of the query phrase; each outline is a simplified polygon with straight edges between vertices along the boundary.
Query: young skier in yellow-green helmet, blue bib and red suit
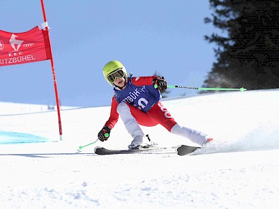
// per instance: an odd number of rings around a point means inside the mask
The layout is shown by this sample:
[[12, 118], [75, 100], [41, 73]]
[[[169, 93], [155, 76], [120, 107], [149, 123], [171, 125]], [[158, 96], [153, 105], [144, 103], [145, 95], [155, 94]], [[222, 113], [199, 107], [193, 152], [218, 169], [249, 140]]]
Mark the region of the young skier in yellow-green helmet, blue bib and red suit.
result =
[[119, 61], [107, 63], [103, 68], [103, 75], [107, 82], [114, 86], [114, 96], [110, 118], [98, 133], [100, 141], [105, 141], [110, 137], [110, 131], [117, 123], [119, 116], [128, 133], [133, 137], [133, 141], [128, 146], [129, 149], [139, 148], [142, 144], [144, 132], [140, 125], [147, 127], [163, 125], [172, 134], [186, 137], [199, 146], [213, 140], [202, 132], [179, 125], [165, 109], [160, 102], [162, 98], [160, 92], [167, 88], [164, 77], [128, 77], [126, 68]]

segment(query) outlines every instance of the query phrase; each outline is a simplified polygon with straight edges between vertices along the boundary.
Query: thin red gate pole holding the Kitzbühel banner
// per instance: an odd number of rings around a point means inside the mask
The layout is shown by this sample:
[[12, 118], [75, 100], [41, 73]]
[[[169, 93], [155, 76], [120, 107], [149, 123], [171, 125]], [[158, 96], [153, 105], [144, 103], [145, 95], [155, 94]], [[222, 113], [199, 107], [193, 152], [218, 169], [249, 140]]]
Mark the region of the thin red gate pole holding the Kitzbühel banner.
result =
[[[43, 3], [43, 0], [40, 0], [40, 4], [42, 5], [44, 21], [47, 22], [47, 16], [45, 15], [45, 5]], [[45, 30], [47, 31], [47, 33], [49, 33], [47, 26], [45, 27]], [[50, 35], [49, 35], [49, 37], [50, 37]], [[49, 38], [49, 41], [50, 41], [50, 38]], [[50, 53], [52, 54], [52, 45], [50, 45]], [[56, 106], [57, 106], [58, 123], [59, 123], [59, 136], [60, 136], [60, 141], [62, 141], [62, 124], [61, 124], [60, 104], [59, 104], [59, 96], [58, 96], [58, 90], [57, 90], [57, 84], [56, 84], [56, 75], [55, 75], [55, 70], [54, 70], [53, 57], [52, 57], [52, 59], [50, 59], [50, 62], [52, 64], [52, 77], [53, 77], [54, 91], [55, 91], [55, 97], [56, 97]]]

